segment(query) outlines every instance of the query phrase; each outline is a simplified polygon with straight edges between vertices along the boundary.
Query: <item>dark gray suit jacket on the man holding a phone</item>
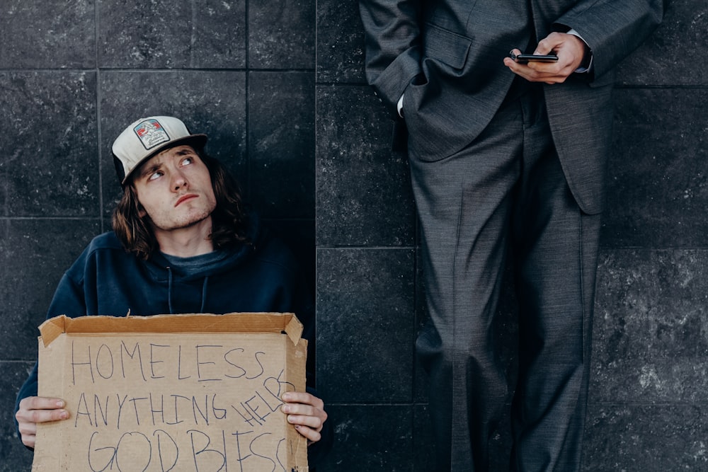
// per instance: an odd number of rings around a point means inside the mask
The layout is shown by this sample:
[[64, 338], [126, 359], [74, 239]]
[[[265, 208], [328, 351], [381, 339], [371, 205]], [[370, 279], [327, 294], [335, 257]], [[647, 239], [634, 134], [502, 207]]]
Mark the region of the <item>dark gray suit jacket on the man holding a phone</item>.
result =
[[612, 131], [614, 67], [663, 16], [662, 0], [360, 0], [367, 80], [395, 109], [405, 92], [408, 145], [435, 161], [474, 140], [515, 77], [513, 47], [571, 28], [593, 52], [593, 73], [544, 85], [561, 165], [584, 212], [602, 210]]

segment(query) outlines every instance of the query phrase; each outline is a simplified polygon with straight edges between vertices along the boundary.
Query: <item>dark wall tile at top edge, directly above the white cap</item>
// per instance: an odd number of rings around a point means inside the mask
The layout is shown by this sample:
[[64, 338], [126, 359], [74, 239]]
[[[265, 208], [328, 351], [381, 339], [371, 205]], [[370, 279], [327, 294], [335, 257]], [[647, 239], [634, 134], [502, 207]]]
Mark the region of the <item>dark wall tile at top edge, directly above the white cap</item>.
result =
[[246, 67], [242, 0], [97, 1], [99, 67]]

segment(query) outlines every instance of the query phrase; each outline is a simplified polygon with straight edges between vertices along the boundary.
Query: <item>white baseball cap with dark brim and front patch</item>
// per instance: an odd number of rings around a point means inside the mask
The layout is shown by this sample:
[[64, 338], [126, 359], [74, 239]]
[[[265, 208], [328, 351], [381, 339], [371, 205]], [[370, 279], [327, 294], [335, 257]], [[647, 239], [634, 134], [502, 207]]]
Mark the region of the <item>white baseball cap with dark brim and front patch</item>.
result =
[[113, 163], [118, 180], [125, 185], [132, 171], [164, 149], [189, 144], [201, 149], [206, 134], [190, 134], [185, 124], [171, 116], [140, 118], [125, 128], [113, 142]]

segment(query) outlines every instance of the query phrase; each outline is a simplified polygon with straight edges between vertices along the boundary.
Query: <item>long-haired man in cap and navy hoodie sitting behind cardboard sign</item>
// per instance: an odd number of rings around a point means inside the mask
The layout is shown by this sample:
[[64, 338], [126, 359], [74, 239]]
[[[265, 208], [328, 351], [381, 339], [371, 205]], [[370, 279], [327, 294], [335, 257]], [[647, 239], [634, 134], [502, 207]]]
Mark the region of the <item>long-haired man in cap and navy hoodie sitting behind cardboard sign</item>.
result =
[[[203, 151], [206, 141], [165, 116], [137, 120], [118, 136], [113, 156], [124, 193], [113, 231], [94, 238], [64, 274], [47, 318], [292, 312], [312, 345], [314, 306], [292, 254], [246, 212], [235, 181]], [[37, 396], [37, 381], [35, 365], [16, 404], [30, 448], [37, 423], [69, 417], [61, 398]], [[324, 403], [307, 392], [282, 400], [316, 462], [332, 440]]]

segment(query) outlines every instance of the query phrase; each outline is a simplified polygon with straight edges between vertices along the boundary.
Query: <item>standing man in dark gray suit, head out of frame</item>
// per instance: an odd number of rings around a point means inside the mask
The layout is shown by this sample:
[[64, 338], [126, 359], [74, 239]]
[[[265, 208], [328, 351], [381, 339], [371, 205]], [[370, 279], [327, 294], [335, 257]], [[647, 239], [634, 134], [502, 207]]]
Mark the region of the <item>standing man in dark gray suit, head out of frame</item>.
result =
[[[486, 471], [519, 306], [513, 471], [580, 467], [614, 67], [661, 0], [360, 0], [367, 79], [396, 117], [421, 221], [438, 470]], [[529, 52], [556, 62], [517, 62]]]

